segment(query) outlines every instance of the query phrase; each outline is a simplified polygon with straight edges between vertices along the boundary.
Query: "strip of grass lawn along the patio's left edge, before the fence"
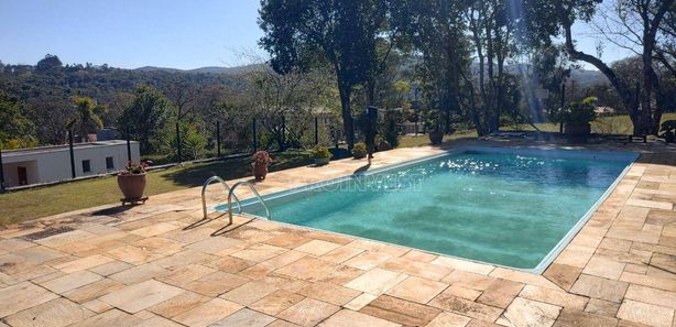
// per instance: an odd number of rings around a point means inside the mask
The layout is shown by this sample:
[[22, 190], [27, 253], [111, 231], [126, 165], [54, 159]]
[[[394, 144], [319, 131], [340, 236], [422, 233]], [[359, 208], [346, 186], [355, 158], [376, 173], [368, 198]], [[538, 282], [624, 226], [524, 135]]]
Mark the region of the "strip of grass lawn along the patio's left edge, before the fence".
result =
[[[270, 171], [282, 171], [312, 163], [306, 152], [288, 151], [273, 155]], [[185, 164], [163, 171], [150, 172], [145, 190], [155, 195], [195, 187], [212, 175], [233, 179], [251, 174], [250, 157]], [[0, 226], [84, 209], [120, 200], [115, 176], [77, 181], [54, 186], [37, 187], [0, 194]]]

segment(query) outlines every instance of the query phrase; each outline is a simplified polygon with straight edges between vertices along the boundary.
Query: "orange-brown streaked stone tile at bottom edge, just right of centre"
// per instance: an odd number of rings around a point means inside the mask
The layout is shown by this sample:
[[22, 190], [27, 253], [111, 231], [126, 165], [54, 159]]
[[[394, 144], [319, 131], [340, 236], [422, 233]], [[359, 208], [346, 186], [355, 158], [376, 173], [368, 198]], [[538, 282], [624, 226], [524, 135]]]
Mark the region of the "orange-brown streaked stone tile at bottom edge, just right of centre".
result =
[[359, 312], [405, 326], [425, 326], [441, 310], [389, 295], [381, 295]]

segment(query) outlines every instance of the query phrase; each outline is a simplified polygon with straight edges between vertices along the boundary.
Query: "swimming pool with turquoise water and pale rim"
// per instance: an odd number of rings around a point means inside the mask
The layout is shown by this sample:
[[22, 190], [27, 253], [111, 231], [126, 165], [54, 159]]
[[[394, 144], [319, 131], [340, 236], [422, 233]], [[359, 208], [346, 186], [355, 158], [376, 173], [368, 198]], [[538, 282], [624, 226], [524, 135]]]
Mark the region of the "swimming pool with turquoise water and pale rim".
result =
[[636, 156], [466, 146], [263, 198], [275, 221], [539, 273]]

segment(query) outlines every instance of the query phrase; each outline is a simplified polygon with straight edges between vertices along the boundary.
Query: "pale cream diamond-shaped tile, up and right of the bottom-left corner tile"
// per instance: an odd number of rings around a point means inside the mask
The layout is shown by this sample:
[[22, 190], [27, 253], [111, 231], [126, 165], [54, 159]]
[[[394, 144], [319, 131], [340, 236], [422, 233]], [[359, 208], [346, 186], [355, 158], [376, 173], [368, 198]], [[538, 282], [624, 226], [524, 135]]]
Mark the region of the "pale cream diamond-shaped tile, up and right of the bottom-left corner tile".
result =
[[138, 313], [183, 292], [178, 287], [150, 280], [106, 294], [100, 299], [124, 312]]

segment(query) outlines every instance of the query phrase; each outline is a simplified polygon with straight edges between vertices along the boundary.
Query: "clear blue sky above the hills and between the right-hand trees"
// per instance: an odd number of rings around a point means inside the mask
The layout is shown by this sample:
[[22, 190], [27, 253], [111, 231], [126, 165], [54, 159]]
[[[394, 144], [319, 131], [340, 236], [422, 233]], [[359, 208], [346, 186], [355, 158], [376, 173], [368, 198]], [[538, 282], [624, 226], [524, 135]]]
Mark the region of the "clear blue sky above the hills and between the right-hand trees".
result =
[[[0, 0], [0, 61], [197, 68], [248, 63], [258, 48], [258, 0]], [[585, 29], [576, 29], [584, 31]], [[579, 47], [596, 54], [596, 42]], [[603, 58], [626, 51], [608, 45]]]

